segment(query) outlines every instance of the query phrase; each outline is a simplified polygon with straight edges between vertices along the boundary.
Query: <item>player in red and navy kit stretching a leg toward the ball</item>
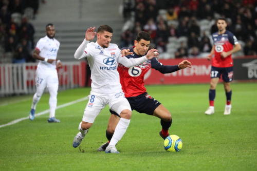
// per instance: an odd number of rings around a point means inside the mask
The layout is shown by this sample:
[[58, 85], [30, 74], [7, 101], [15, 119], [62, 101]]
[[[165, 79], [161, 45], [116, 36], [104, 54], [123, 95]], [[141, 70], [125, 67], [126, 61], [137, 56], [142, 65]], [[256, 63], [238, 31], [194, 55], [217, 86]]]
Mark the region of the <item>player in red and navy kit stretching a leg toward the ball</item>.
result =
[[[150, 40], [151, 37], [149, 33], [144, 31], [139, 32], [134, 41], [135, 46], [124, 48], [133, 52], [133, 54], [127, 55], [126, 58], [140, 58], [145, 55], [149, 50]], [[146, 88], [144, 87], [144, 74], [151, 68], [154, 68], [161, 73], [171, 73], [187, 67], [191, 68], [191, 63], [187, 60], [182, 61], [178, 65], [162, 65], [156, 59], [148, 60], [130, 68], [121, 64], [118, 66], [122, 90], [125, 93], [125, 97], [130, 103], [132, 110], [134, 109], [140, 113], [146, 113], [160, 118], [162, 129], [159, 134], [163, 139], [169, 136], [169, 128], [172, 124], [171, 113], [166, 107], [146, 92]], [[112, 139], [115, 127], [120, 119], [117, 113], [112, 110], [110, 110], [110, 112], [112, 115], [106, 130], [106, 138], [109, 141]], [[98, 150], [104, 151], [107, 145], [108, 142], [102, 144]]]

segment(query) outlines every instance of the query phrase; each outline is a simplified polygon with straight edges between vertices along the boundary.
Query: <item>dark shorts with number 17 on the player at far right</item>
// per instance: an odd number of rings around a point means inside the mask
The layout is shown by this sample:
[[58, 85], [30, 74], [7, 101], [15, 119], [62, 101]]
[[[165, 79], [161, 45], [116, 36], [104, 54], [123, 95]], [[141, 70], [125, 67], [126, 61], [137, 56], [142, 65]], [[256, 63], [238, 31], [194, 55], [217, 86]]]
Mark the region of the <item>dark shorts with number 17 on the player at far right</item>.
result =
[[221, 78], [224, 82], [231, 82], [233, 80], [233, 67], [219, 68], [219, 67], [211, 67], [211, 79], [213, 78]]

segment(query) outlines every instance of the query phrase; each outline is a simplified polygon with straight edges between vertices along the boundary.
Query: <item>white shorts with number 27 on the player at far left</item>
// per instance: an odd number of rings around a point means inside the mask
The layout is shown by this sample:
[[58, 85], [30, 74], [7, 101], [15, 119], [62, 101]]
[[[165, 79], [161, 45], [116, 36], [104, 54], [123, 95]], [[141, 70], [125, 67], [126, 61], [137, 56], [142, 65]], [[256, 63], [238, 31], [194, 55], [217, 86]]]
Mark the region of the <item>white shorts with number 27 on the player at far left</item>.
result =
[[35, 77], [35, 85], [36, 89], [44, 90], [45, 87], [58, 87], [59, 80], [58, 80], [58, 73], [56, 69], [51, 70], [36, 70], [36, 77]]

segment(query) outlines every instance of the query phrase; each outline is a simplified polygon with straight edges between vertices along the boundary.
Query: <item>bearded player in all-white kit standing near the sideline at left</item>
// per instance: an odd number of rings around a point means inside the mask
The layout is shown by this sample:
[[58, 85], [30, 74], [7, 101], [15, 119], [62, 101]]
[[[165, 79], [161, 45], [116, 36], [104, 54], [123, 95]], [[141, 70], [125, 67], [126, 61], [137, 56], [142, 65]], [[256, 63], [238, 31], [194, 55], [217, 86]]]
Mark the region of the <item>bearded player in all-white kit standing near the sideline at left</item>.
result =
[[49, 123], [60, 122], [55, 118], [57, 107], [57, 91], [58, 91], [58, 74], [56, 67], [61, 67], [62, 63], [57, 60], [57, 52], [60, 47], [58, 40], [54, 39], [56, 30], [53, 24], [46, 25], [46, 36], [42, 37], [36, 44], [33, 51], [33, 58], [40, 60], [38, 68], [36, 68], [36, 92], [33, 96], [31, 110], [29, 112], [29, 119], [33, 120], [35, 117], [35, 107], [39, 102], [44, 89], [47, 87], [50, 93], [49, 106], [50, 115], [47, 120]]

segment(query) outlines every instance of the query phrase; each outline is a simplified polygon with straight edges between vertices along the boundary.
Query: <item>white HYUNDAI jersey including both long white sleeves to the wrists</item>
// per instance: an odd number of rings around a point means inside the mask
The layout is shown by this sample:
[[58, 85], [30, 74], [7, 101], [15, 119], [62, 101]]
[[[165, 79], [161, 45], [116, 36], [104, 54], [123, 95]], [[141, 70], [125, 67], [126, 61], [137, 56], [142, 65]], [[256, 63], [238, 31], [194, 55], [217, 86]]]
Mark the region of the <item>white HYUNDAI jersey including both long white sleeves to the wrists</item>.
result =
[[91, 89], [95, 94], [111, 94], [121, 92], [118, 63], [126, 67], [135, 66], [146, 61], [146, 56], [138, 59], [122, 57], [116, 44], [110, 43], [107, 48], [99, 46], [97, 42], [84, 40], [76, 50], [76, 59], [87, 58], [91, 69]]

